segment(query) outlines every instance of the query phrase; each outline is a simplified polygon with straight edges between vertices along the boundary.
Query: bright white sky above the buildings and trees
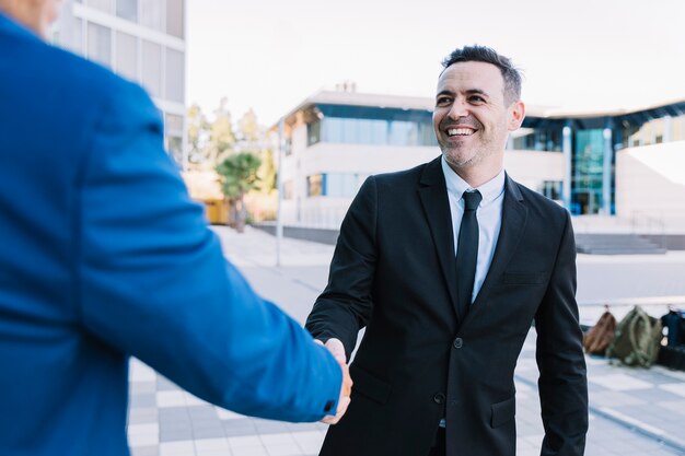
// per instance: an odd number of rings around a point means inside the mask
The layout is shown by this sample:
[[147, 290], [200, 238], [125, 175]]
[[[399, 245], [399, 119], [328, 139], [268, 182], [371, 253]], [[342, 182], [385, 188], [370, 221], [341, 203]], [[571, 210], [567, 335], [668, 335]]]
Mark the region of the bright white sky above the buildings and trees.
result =
[[685, 0], [187, 0], [186, 104], [278, 122], [307, 96], [433, 97], [441, 60], [479, 44], [523, 71], [529, 105], [685, 100]]

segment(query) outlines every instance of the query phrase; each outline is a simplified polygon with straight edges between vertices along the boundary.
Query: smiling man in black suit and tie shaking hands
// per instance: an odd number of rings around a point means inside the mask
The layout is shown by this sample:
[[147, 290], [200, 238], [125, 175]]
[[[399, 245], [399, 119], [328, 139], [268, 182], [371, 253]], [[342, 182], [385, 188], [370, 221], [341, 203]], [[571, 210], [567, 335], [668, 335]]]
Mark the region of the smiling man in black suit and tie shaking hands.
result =
[[438, 81], [442, 155], [370, 177], [306, 328], [349, 356], [351, 405], [321, 455], [513, 456], [514, 367], [535, 323], [543, 455], [580, 456], [588, 389], [568, 212], [503, 171], [524, 118], [495, 50], [454, 50]]

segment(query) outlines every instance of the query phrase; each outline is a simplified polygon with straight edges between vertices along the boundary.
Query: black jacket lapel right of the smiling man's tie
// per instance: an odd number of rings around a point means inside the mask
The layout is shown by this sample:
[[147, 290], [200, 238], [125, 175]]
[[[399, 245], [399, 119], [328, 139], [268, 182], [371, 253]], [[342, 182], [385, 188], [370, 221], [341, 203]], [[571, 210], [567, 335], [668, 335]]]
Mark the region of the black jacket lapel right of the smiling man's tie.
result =
[[476, 301], [471, 308], [468, 316], [483, 312], [483, 307], [487, 307], [487, 296], [492, 287], [500, 280], [504, 273], [507, 265], [511, 256], [516, 250], [516, 245], [525, 231], [525, 222], [527, 219], [527, 208], [523, 202], [521, 191], [509, 176], [504, 180], [504, 201], [502, 204], [502, 224], [499, 232], [497, 246], [492, 262], [485, 277], [483, 287], [476, 296]]

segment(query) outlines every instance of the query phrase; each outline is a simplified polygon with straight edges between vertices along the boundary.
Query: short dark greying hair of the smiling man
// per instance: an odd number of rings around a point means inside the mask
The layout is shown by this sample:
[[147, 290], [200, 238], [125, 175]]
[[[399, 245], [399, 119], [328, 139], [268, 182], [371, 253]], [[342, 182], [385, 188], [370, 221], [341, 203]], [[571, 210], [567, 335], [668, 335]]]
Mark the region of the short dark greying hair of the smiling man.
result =
[[499, 68], [504, 80], [504, 101], [507, 104], [521, 100], [521, 73], [509, 58], [487, 46], [465, 46], [454, 49], [442, 61], [442, 67], [446, 69], [451, 65], [466, 61], [480, 61]]

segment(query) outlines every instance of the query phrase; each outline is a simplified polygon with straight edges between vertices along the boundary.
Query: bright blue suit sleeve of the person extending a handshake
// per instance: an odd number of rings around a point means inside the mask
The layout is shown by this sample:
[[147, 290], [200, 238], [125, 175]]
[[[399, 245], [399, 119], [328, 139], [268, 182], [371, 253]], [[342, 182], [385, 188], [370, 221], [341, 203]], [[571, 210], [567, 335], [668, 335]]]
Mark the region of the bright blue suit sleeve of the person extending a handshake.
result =
[[335, 360], [223, 258], [149, 97], [128, 83], [112, 92], [78, 183], [74, 294], [86, 329], [241, 413], [315, 421], [335, 410]]

